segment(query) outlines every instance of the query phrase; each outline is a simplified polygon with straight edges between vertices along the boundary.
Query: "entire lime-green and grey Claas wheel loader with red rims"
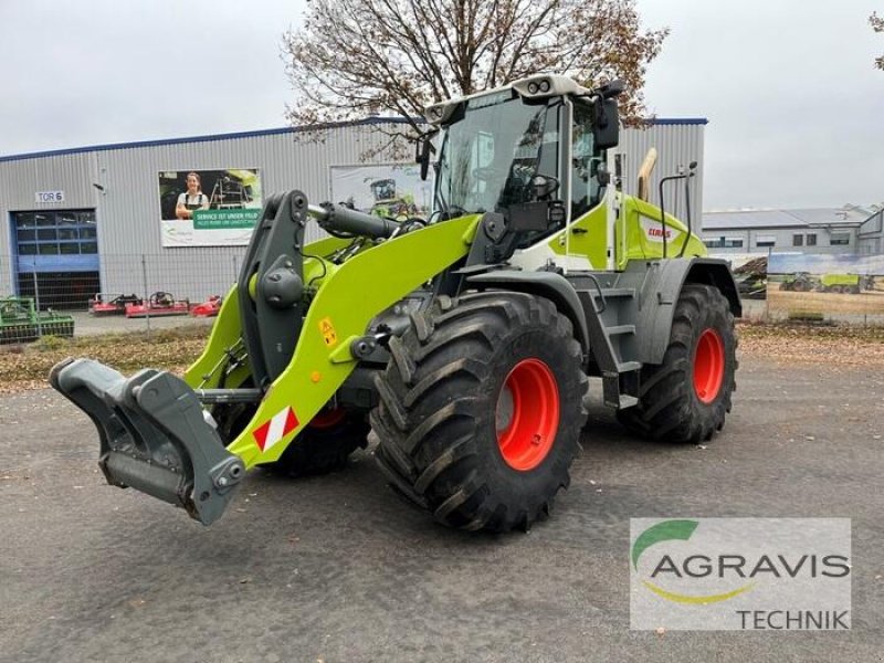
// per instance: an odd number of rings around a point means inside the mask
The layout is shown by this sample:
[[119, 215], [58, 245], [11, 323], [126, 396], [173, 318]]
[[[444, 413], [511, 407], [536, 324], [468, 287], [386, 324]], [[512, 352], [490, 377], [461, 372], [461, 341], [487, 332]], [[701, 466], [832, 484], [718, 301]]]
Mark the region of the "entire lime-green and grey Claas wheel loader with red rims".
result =
[[[590, 377], [630, 431], [709, 440], [739, 295], [690, 219], [619, 190], [621, 91], [538, 75], [430, 106], [424, 221], [272, 197], [183, 379], [52, 370], [98, 429], [107, 481], [208, 525], [250, 469], [325, 472], [371, 442], [439, 522], [507, 532], [568, 486]], [[329, 236], [305, 244], [308, 223]]]

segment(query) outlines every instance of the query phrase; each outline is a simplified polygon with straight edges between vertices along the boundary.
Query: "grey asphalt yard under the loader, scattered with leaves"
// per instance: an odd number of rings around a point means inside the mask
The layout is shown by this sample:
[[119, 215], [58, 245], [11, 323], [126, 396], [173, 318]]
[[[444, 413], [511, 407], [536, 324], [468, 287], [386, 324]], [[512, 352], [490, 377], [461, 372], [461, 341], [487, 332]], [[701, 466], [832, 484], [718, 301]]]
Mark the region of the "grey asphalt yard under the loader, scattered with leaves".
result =
[[[597, 404], [551, 518], [506, 536], [435, 525], [369, 454], [255, 471], [206, 528], [107, 486], [53, 391], [0, 397], [0, 661], [884, 660], [884, 367], [744, 354], [738, 383], [705, 449]], [[852, 630], [630, 631], [629, 519], [685, 516], [852, 518]]]

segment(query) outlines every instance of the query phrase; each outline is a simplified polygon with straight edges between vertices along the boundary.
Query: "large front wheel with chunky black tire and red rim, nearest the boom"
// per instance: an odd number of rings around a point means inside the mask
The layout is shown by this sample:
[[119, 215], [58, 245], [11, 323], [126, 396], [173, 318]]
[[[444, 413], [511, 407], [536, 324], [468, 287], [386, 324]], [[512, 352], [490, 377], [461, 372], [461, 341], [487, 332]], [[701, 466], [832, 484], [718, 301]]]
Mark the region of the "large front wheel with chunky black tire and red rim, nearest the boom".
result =
[[462, 529], [527, 529], [547, 515], [586, 421], [568, 318], [522, 293], [441, 297], [390, 351], [371, 436], [392, 486]]

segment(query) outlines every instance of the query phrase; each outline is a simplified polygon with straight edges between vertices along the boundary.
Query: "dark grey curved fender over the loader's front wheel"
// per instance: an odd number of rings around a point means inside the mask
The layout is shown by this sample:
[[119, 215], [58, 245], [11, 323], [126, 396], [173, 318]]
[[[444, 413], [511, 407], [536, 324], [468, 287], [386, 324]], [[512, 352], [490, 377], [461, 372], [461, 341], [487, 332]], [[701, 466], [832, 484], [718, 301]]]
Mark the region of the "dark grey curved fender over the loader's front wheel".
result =
[[555, 272], [520, 272], [501, 270], [485, 272], [466, 278], [478, 290], [497, 288], [527, 293], [550, 299], [556, 308], [573, 325], [573, 336], [580, 343], [583, 356], [589, 354], [589, 330], [583, 306], [570, 282]]

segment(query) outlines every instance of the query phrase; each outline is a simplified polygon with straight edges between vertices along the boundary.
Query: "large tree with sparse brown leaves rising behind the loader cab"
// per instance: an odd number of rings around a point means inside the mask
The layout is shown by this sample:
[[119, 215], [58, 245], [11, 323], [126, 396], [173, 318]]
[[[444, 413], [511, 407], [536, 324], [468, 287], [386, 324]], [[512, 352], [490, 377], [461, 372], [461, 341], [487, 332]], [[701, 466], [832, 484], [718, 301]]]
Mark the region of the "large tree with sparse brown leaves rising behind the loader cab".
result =
[[295, 126], [406, 118], [424, 106], [535, 73], [591, 87], [623, 78], [627, 122], [644, 110], [645, 67], [667, 29], [643, 30], [635, 0], [311, 0], [303, 28], [284, 35]]

